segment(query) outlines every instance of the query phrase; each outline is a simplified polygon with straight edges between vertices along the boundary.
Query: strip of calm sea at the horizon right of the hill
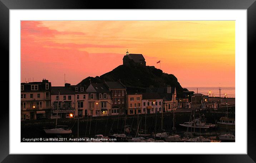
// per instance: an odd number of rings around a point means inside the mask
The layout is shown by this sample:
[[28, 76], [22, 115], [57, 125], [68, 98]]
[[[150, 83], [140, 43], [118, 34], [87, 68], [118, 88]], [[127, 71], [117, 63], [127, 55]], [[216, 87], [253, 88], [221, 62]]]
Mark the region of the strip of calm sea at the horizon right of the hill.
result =
[[[211, 95], [209, 97], [220, 97], [219, 87], [183, 87], [187, 88], [189, 91], [194, 91], [195, 93], [202, 93], [203, 95], [209, 95], [211, 91]], [[236, 97], [236, 89], [235, 87], [220, 87], [221, 88], [221, 97], [224, 97], [225, 93], [228, 98]], [[207, 94], [208, 93], [208, 94]]]

